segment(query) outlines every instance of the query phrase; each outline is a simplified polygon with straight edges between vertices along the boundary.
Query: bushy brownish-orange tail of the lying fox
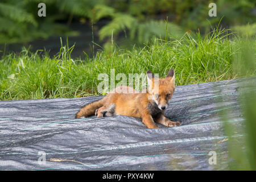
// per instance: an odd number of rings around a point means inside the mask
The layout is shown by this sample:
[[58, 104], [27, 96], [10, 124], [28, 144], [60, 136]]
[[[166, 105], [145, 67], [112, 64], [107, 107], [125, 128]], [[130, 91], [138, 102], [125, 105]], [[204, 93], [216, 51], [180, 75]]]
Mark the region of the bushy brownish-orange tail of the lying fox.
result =
[[102, 98], [101, 100], [92, 102], [88, 105], [85, 105], [80, 109], [78, 113], [76, 113], [76, 118], [89, 117], [90, 115], [94, 115], [96, 109], [103, 106], [103, 104], [104, 104], [104, 98]]

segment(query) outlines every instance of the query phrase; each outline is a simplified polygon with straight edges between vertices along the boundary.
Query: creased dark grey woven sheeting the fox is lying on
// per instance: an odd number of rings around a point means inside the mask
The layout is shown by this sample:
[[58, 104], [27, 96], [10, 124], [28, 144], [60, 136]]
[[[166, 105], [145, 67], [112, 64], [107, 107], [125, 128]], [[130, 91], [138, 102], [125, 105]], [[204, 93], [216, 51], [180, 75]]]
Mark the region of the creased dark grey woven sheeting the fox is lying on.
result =
[[[233, 137], [240, 141], [245, 119], [238, 97], [251, 89], [246, 83], [255, 85], [255, 77], [176, 86], [166, 117], [181, 126], [159, 129], [123, 115], [75, 119], [81, 106], [102, 97], [1, 101], [0, 169], [228, 169], [220, 113], [237, 126]], [[216, 165], [209, 164], [210, 151]]]

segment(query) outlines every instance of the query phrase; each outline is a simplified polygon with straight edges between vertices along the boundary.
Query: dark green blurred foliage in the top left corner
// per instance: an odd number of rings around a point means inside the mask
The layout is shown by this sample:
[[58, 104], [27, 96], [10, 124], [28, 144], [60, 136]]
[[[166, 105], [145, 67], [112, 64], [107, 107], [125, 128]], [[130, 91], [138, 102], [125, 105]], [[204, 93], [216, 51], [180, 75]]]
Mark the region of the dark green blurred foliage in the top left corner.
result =
[[0, 27], [0, 43], [28, 42], [68, 32], [67, 27], [55, 23], [60, 16], [49, 16], [41, 21], [37, 14], [38, 2], [13, 0], [0, 3], [0, 23], [5, 25]]

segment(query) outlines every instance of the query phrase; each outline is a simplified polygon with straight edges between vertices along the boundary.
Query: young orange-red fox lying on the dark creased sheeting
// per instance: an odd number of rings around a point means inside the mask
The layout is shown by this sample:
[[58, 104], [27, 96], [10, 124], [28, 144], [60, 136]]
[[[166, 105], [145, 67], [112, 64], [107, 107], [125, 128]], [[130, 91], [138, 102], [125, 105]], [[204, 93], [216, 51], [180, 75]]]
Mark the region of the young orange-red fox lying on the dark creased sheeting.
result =
[[[151, 71], [147, 71], [148, 89], [146, 92], [137, 92], [129, 86], [120, 86], [101, 100], [85, 105], [76, 114], [76, 118], [127, 115], [130, 117], [142, 118], [142, 122], [150, 129], [159, 128], [155, 122], [167, 127], [180, 126], [180, 122], [170, 121], [164, 117], [164, 110], [168, 107], [175, 90], [175, 73], [173, 69], [165, 78], [158, 79], [158, 86], [155, 86], [155, 76]], [[126, 93], [117, 92], [124, 90]], [[127, 93], [128, 91], [128, 93]], [[132, 91], [132, 93], [131, 93]]]

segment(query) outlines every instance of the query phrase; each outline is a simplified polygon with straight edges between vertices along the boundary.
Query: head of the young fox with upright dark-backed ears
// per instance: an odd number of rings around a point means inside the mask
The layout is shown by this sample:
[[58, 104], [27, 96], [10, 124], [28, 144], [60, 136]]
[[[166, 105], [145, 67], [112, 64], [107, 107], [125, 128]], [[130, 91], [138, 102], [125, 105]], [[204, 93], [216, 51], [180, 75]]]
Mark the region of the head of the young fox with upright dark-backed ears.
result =
[[147, 71], [147, 84], [151, 99], [160, 110], [165, 110], [175, 90], [174, 70], [170, 69], [165, 78], [157, 78], [151, 71]]

